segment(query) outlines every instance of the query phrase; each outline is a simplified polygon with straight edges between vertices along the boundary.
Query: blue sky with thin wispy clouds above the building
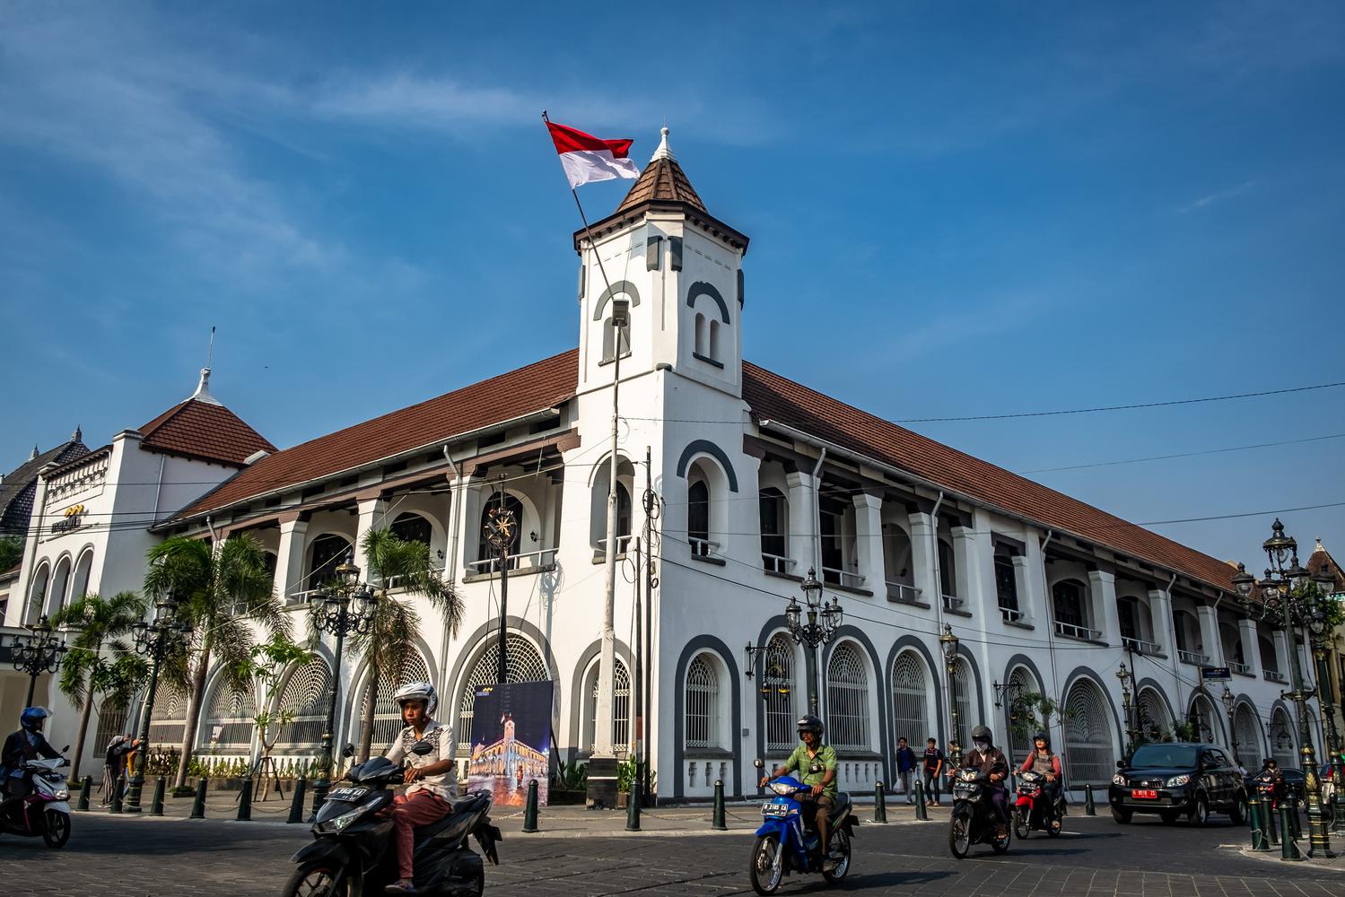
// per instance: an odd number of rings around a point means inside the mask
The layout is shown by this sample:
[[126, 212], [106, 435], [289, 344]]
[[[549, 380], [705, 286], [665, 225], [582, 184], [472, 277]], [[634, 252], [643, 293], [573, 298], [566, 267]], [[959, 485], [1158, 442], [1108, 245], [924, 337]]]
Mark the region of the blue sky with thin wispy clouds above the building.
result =
[[[573, 347], [542, 109], [639, 161], [666, 124], [752, 238], [745, 356], [881, 417], [1345, 381], [1338, 3], [589, 11], [0, 4], [0, 468], [186, 398], [211, 327], [214, 394], [280, 446]], [[590, 218], [627, 187], [581, 188]], [[1219, 518], [1153, 529], [1259, 570], [1278, 511], [1345, 559], [1342, 412], [911, 426]]]

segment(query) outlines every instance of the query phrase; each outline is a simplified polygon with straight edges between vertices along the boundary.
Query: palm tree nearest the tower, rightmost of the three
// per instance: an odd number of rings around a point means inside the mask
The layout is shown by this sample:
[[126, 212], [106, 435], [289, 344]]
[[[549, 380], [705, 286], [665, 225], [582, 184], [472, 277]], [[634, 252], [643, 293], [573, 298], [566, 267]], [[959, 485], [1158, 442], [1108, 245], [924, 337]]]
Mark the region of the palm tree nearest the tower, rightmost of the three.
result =
[[363, 539], [366, 574], [374, 585], [378, 601], [374, 605], [374, 619], [369, 631], [351, 637], [351, 644], [364, 655], [370, 670], [369, 694], [362, 718], [359, 742], [360, 760], [369, 758], [370, 742], [374, 738], [374, 706], [378, 686], [385, 675], [397, 675], [416, 651], [420, 637], [420, 616], [408, 601], [393, 597], [391, 590], [405, 589], [405, 594], [424, 594], [430, 605], [444, 616], [444, 623], [453, 635], [463, 621], [463, 598], [453, 586], [440, 577], [430, 563], [429, 546], [424, 542], [405, 541], [393, 535], [391, 530], [369, 530]]

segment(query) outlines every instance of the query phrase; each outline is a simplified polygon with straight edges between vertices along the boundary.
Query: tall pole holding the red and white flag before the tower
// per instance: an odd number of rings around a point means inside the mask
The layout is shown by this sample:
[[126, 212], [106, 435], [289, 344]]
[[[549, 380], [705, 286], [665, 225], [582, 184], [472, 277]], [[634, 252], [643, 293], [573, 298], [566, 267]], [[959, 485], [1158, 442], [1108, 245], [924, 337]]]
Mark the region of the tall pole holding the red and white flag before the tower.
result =
[[[542, 110], [542, 121], [550, 124], [546, 110]], [[603, 286], [607, 295], [612, 293], [612, 284], [607, 278], [607, 269], [603, 266], [603, 256], [599, 253], [597, 241], [589, 227], [588, 215], [584, 214], [584, 204], [580, 202], [578, 191], [570, 187], [574, 196], [574, 207], [584, 222], [584, 234], [588, 237], [593, 258], [597, 260], [599, 273], [603, 276]], [[616, 471], [617, 471], [617, 442], [620, 438], [619, 397], [621, 389], [621, 329], [613, 315], [612, 321], [612, 453], [608, 459], [608, 490], [607, 490], [607, 542], [603, 546], [603, 561], [605, 576], [603, 601], [603, 633], [601, 650], [599, 654], [597, 701], [593, 713], [593, 753], [589, 760], [589, 800], [604, 806], [616, 806], [616, 752], [612, 744], [612, 729], [615, 725], [613, 691], [616, 686]], [[599, 763], [594, 763], [599, 761]], [[611, 781], [608, 777], [611, 776]], [[608, 804], [607, 802], [611, 802]]]

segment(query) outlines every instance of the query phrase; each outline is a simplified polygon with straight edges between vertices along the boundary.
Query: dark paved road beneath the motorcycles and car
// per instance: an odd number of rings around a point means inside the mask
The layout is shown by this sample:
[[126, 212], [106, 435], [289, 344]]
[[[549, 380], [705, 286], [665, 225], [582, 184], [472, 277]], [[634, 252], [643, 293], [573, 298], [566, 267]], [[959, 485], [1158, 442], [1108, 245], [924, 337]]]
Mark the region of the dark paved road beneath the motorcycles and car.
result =
[[[504, 865], [490, 869], [499, 896], [751, 893], [751, 835], [547, 838], [507, 831]], [[958, 897], [1208, 897], [1293, 894], [1345, 897], [1345, 861], [1332, 867], [1243, 855], [1244, 828], [1206, 830], [1110, 818], [1071, 816], [1059, 841], [1036, 835], [1005, 857], [974, 849], [966, 861], [947, 851], [942, 822], [863, 826], [855, 863], [839, 888], [873, 894]], [[277, 894], [289, 854], [305, 843], [301, 826], [187, 822], [81, 815], [61, 851], [40, 841], [0, 836], [0, 892], [65, 897], [117, 894]], [[788, 880], [780, 893], [824, 890], [818, 877]]]

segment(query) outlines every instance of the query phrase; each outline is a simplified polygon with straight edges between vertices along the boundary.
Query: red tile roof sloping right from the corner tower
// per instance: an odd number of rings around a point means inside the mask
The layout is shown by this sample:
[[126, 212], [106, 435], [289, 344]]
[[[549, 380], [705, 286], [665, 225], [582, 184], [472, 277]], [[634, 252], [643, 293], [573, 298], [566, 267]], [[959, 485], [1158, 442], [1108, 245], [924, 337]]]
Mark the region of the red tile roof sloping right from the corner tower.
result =
[[742, 363], [742, 398], [759, 420], [794, 426], [1045, 527], [1111, 546], [1123, 554], [1177, 570], [1220, 589], [1232, 588], [1235, 569], [1224, 561], [866, 414], [749, 362]]

